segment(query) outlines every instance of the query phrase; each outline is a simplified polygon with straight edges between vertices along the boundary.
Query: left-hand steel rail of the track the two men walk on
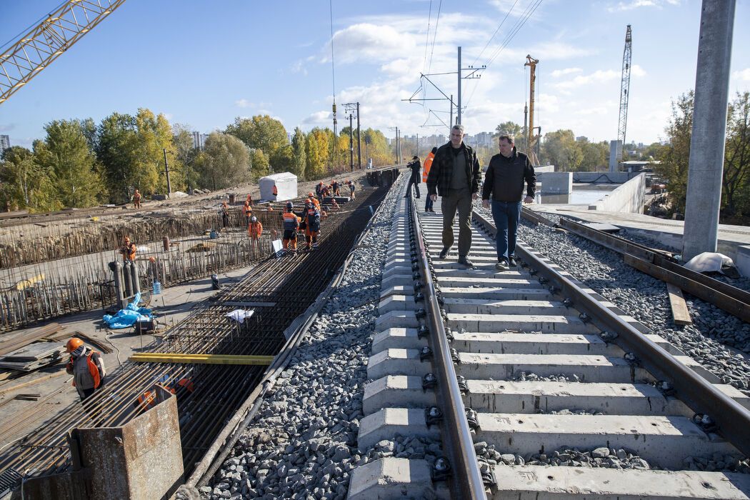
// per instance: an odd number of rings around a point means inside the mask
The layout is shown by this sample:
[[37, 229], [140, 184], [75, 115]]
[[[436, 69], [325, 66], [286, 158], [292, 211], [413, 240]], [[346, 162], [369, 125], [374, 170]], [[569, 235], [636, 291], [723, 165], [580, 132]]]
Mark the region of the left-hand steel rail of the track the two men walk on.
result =
[[409, 214], [418, 250], [419, 271], [425, 280], [425, 310], [430, 330], [430, 344], [434, 352], [433, 366], [437, 372], [438, 387], [440, 388], [440, 401], [443, 401], [443, 415], [446, 425], [441, 426], [443, 430], [443, 441], [448, 444], [448, 453], [451, 458], [453, 478], [458, 490], [456, 498], [460, 499], [487, 499], [484, 491], [484, 482], [481, 478], [479, 463], [474, 450], [469, 423], [466, 421], [466, 409], [463, 406], [456, 370], [453, 366], [451, 349], [446, 337], [446, 329], [443, 325], [443, 316], [440, 313], [440, 303], [435, 292], [435, 283], [428, 262], [428, 251], [425, 247], [425, 238], [422, 235], [422, 226], [419, 224], [416, 203], [413, 196], [408, 197]]

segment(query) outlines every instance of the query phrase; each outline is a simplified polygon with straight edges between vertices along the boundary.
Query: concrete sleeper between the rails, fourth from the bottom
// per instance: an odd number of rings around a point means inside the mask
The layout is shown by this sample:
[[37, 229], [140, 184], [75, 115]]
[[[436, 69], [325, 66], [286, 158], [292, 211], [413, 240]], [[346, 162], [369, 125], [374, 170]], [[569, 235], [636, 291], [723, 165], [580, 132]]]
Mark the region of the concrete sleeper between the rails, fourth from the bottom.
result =
[[622, 358], [596, 355], [526, 355], [474, 354], [460, 352], [458, 375], [466, 379], [510, 380], [521, 372], [538, 376], [577, 376], [580, 382], [615, 382], [628, 384], [634, 380], [652, 381], [641, 368], [631, 367]]

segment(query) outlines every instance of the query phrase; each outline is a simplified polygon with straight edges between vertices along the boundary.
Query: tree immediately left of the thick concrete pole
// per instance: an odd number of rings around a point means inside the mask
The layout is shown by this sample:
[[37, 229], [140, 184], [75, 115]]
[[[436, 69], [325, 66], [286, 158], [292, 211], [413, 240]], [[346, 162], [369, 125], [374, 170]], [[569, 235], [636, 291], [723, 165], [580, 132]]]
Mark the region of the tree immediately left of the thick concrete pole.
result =
[[682, 214], [685, 213], [685, 196], [688, 186], [693, 98], [693, 91], [689, 91], [677, 97], [676, 101], [672, 101], [672, 116], [664, 129], [669, 143], [659, 151], [658, 158], [661, 164], [655, 167], [655, 171], [667, 179], [673, 208]]

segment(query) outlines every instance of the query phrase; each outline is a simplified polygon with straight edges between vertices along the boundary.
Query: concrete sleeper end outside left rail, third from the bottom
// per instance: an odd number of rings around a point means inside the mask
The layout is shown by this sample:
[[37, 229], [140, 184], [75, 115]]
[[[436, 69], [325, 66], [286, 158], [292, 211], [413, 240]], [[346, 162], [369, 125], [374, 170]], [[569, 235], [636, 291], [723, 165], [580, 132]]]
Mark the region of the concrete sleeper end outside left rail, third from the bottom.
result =
[[422, 377], [388, 375], [365, 384], [362, 412], [371, 415], [384, 408], [425, 409], [435, 406], [435, 391], [422, 389]]

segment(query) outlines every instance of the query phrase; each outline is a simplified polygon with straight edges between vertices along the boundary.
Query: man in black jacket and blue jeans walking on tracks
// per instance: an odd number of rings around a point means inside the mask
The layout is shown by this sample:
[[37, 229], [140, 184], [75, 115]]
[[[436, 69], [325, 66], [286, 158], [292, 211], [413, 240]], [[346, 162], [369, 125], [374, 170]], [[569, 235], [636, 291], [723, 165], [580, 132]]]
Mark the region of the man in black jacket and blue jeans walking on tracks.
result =
[[481, 204], [484, 208], [490, 208], [490, 196], [492, 199], [492, 218], [497, 228], [495, 268], [498, 271], [508, 271], [508, 267], [516, 265], [514, 253], [523, 181], [526, 181], [524, 203], [534, 201], [536, 190], [534, 166], [526, 154], [516, 151], [513, 142], [514, 137], [510, 134], [499, 136], [500, 153], [490, 159], [490, 166], [484, 175], [484, 187], [481, 190]]

